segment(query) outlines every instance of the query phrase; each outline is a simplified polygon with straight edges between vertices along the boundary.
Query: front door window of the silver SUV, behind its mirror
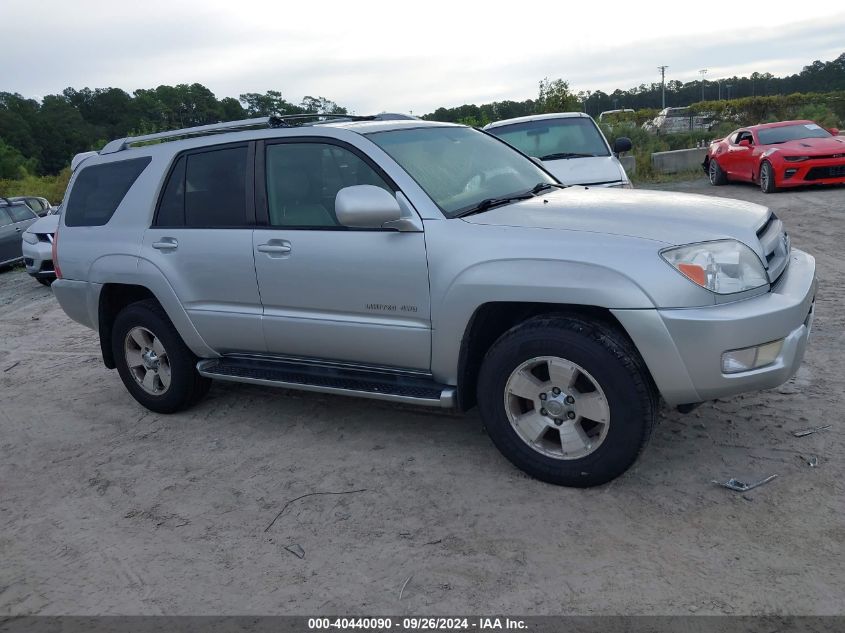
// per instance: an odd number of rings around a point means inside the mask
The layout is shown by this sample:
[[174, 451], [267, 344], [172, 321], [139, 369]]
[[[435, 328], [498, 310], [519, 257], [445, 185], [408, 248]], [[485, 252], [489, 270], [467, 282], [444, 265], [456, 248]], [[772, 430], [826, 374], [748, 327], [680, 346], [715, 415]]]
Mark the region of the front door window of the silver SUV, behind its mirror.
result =
[[266, 149], [267, 206], [271, 226], [335, 227], [337, 192], [385, 180], [350, 150], [328, 143], [276, 143]]

